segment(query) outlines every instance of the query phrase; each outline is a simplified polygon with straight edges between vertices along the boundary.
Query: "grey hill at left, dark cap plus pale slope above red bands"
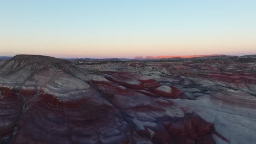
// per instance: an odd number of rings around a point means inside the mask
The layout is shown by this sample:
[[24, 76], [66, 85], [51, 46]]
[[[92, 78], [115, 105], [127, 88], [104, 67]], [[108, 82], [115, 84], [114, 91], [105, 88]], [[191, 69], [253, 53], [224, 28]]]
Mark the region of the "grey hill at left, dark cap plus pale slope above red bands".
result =
[[[17, 55], [0, 69], [0, 87], [43, 90], [66, 97], [77, 89], [88, 89], [86, 71], [71, 62], [48, 56]], [[75, 95], [75, 94], [73, 94]]]

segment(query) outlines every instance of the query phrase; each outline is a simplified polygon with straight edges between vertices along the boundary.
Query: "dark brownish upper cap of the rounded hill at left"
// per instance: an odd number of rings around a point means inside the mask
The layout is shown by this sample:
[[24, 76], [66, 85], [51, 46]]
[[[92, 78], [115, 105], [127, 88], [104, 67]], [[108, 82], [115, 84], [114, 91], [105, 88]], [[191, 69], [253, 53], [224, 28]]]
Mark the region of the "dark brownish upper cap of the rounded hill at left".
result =
[[[12, 79], [25, 79], [32, 77], [42, 70], [55, 69], [56, 71], [65, 71], [72, 74], [77, 68], [71, 62], [63, 59], [40, 56], [40, 55], [16, 55], [6, 61], [0, 67], [0, 77]], [[14, 75], [18, 76], [15, 77]]]

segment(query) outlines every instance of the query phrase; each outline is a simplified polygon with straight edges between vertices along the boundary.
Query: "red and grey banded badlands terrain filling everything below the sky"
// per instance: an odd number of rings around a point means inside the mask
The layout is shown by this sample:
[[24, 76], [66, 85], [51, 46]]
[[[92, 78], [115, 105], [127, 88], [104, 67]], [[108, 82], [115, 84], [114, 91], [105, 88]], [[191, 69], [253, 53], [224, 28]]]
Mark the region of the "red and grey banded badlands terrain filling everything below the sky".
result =
[[0, 143], [256, 143], [254, 57], [0, 61]]

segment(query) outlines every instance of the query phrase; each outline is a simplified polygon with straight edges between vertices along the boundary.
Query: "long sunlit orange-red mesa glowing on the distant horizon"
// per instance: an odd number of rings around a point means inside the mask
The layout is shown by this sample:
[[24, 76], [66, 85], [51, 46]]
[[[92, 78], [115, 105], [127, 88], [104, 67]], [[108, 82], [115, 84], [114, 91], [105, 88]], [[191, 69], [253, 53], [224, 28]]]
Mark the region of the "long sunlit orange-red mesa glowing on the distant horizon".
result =
[[190, 55], [190, 56], [137, 56], [134, 59], [162, 59], [162, 58], [193, 58], [193, 57], [211, 57], [211, 56], [225, 56], [225, 55]]

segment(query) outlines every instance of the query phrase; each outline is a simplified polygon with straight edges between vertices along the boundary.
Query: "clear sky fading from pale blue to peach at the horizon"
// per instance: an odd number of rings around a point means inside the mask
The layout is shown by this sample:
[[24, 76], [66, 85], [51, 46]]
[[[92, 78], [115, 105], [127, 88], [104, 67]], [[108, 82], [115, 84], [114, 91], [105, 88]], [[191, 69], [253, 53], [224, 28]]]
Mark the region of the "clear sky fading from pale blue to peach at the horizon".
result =
[[255, 0], [0, 0], [0, 55], [256, 54]]

